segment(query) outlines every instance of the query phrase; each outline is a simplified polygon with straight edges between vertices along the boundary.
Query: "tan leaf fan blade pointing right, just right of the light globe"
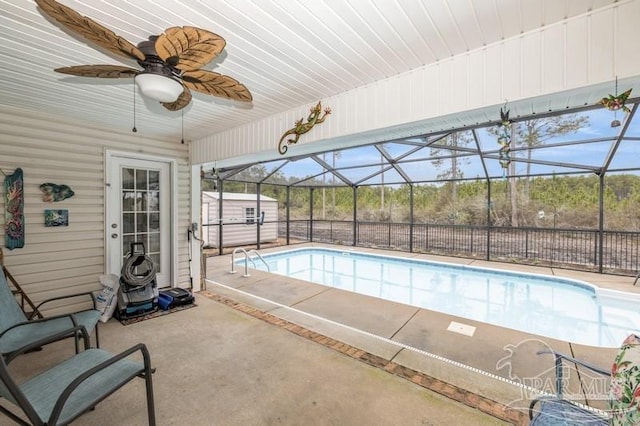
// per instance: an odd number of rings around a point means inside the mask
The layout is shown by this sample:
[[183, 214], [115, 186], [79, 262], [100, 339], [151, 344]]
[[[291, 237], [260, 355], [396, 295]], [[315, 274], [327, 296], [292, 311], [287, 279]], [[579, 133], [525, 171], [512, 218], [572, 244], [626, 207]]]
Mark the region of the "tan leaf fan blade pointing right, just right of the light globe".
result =
[[205, 70], [188, 71], [182, 75], [182, 82], [196, 92], [206, 93], [207, 95], [242, 102], [251, 102], [253, 100], [251, 92], [244, 84], [217, 72]]

